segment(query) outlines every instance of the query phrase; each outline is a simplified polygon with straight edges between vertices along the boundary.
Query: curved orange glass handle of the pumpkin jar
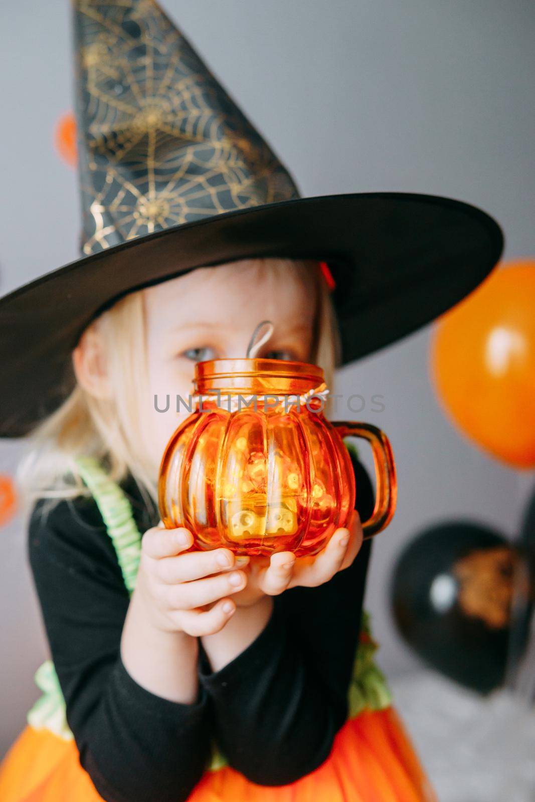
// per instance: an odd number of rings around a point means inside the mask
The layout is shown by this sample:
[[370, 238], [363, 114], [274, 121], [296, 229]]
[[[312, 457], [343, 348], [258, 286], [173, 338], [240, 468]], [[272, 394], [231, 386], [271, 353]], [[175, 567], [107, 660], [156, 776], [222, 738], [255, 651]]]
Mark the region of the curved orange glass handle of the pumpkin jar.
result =
[[371, 423], [351, 423], [333, 420], [331, 424], [344, 437], [363, 437], [371, 445], [375, 466], [375, 507], [368, 520], [363, 521], [364, 538], [367, 540], [381, 532], [391, 522], [395, 512], [398, 483], [395, 474], [394, 454], [390, 440], [384, 431]]

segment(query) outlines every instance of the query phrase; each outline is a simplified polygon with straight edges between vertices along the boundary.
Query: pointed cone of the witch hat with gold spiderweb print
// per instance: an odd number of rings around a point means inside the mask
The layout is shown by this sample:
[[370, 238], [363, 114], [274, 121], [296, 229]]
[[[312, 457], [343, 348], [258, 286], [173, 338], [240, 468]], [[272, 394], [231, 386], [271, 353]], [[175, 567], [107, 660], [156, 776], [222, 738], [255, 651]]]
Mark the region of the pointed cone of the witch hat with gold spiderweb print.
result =
[[152, 0], [77, 0], [83, 252], [299, 196]]

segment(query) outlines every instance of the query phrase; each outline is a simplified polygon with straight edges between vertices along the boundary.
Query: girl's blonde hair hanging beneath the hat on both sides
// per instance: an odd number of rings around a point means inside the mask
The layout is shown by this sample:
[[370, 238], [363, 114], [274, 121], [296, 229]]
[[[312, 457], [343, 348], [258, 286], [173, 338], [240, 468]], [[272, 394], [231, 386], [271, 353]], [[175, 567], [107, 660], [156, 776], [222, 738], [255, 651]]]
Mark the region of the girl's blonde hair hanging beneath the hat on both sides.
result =
[[[314, 277], [312, 361], [323, 368], [326, 385], [332, 387], [340, 349], [338, 327], [318, 263], [286, 258], [267, 261], [284, 277], [295, 269], [306, 270], [307, 277]], [[87, 494], [75, 460], [78, 456], [94, 456], [103, 460], [116, 482], [130, 473], [145, 502], [156, 508], [156, 477], [146, 460], [140, 419], [140, 398], [147, 375], [143, 290], [121, 298], [92, 325], [99, 326], [103, 334], [112, 399], [95, 398], [76, 383], [71, 395], [30, 435], [26, 456], [18, 468], [22, 497], [29, 505], [38, 498], [58, 500]]]

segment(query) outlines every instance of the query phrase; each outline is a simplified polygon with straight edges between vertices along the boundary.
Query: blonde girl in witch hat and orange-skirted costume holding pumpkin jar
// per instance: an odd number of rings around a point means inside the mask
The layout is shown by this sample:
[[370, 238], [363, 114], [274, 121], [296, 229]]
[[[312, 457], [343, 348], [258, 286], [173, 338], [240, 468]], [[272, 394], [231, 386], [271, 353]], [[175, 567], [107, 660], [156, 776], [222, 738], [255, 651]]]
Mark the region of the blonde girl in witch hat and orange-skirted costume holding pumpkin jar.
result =
[[314, 559], [188, 551], [191, 533], [159, 523], [180, 417], [154, 398], [187, 397], [194, 363], [243, 356], [264, 318], [257, 355], [329, 382], [460, 300], [501, 233], [445, 199], [300, 199], [154, 2], [74, 7], [86, 257], [0, 301], [0, 435], [32, 434], [52, 657], [0, 798], [430, 800], [365, 624], [359, 638], [363, 466], [350, 528]]

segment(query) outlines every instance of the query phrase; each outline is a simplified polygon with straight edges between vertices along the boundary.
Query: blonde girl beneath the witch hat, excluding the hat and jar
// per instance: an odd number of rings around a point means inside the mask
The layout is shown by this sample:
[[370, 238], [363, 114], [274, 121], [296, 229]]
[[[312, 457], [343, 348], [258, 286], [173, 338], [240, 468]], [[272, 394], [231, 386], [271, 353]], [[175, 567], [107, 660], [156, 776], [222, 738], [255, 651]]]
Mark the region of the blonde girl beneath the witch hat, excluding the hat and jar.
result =
[[[71, 741], [43, 742], [30, 727], [7, 760], [2, 800], [58, 800], [60, 785], [65, 799], [109, 802], [271, 799], [274, 788], [261, 786], [281, 785], [304, 798], [318, 784], [325, 800], [372, 799], [371, 788], [384, 800], [428, 798], [390, 710], [353, 719], [329, 757], [347, 718], [362, 613], [369, 549], [359, 515], [314, 559], [282, 552], [267, 566], [229, 549], [181, 554], [191, 534], [157, 525], [151, 497], [177, 421], [154, 396], [187, 398], [194, 363], [244, 354], [262, 314], [274, 335], [261, 356], [330, 370], [332, 312], [311, 262], [197, 269], [128, 295], [84, 331], [77, 387], [35, 435], [24, 472], [40, 496], [30, 565], [83, 768]], [[81, 492], [80, 480], [96, 488], [99, 474], [76, 464], [80, 453], [106, 460], [143, 533], [130, 598], [102, 496]], [[356, 470], [368, 517], [371, 485]], [[203, 776], [212, 736], [232, 768]]]

